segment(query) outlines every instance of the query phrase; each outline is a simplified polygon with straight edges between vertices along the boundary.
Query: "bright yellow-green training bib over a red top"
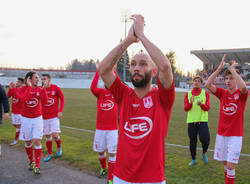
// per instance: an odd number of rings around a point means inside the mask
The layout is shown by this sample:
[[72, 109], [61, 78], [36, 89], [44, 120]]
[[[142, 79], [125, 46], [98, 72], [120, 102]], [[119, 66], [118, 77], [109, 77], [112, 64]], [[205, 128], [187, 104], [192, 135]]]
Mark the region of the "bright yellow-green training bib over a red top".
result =
[[[188, 92], [188, 101], [191, 102], [192, 92]], [[202, 104], [206, 102], [206, 91], [201, 90], [201, 93], [198, 96], [194, 96], [194, 102], [192, 108], [187, 113], [187, 123], [194, 122], [208, 122], [208, 111], [204, 111], [201, 109], [199, 105], [197, 105], [198, 101], [202, 101]]]

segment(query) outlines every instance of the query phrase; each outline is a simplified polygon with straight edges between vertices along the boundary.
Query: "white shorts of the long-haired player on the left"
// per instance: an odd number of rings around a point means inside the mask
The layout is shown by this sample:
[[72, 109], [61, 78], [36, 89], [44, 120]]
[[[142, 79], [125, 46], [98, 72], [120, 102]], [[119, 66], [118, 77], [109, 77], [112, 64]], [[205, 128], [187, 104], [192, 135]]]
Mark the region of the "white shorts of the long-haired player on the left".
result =
[[37, 118], [21, 118], [22, 126], [20, 130], [20, 140], [30, 141], [32, 139], [43, 138], [43, 119], [42, 116]]

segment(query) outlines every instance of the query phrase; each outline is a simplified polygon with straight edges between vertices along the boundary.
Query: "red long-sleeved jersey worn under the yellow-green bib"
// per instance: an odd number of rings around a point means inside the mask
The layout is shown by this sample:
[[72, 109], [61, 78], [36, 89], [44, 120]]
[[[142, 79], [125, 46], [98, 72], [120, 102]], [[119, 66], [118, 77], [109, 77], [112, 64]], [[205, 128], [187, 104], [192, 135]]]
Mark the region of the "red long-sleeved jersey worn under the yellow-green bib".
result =
[[[201, 88], [195, 89], [193, 88], [191, 93], [193, 96], [198, 96], [201, 93]], [[188, 112], [191, 108], [192, 108], [193, 104], [189, 103], [188, 100], [188, 93], [185, 94], [185, 98], [184, 98], [184, 111]], [[209, 111], [210, 109], [210, 102], [209, 102], [209, 93], [206, 91], [206, 102], [205, 104], [201, 104], [201, 109], [203, 111]]]

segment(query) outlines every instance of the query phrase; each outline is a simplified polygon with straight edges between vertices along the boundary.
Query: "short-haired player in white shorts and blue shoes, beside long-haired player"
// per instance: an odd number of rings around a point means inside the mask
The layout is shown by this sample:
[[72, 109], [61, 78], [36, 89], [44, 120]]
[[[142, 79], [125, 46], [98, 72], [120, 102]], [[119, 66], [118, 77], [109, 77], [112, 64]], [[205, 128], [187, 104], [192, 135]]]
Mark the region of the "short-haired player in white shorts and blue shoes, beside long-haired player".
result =
[[[46, 91], [48, 95], [48, 103], [42, 103], [42, 115], [43, 115], [43, 134], [46, 136], [46, 148], [48, 154], [43, 161], [48, 162], [53, 158], [52, 154], [52, 137], [57, 145], [57, 156], [62, 156], [62, 145], [59, 133], [60, 130], [60, 118], [64, 108], [64, 95], [62, 90], [57, 85], [51, 84], [51, 76], [49, 74], [42, 74], [42, 85], [48, 84]], [[59, 107], [60, 102], [60, 107]]]

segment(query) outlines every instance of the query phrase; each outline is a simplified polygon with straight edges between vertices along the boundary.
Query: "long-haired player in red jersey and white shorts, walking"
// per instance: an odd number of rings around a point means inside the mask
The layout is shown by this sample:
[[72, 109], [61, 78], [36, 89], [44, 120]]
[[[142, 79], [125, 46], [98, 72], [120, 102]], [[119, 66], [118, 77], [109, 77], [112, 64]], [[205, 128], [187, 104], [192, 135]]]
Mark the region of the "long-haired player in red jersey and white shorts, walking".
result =
[[[35, 174], [40, 174], [40, 160], [42, 155], [41, 140], [43, 137], [43, 120], [41, 111], [42, 103], [48, 103], [46, 93], [47, 83], [43, 88], [38, 87], [39, 76], [36, 72], [28, 72], [25, 76], [25, 87], [22, 87], [20, 93], [16, 91], [17, 97], [24, 103], [22, 110], [22, 126], [20, 131], [20, 140], [25, 141], [25, 150], [29, 158], [29, 170]], [[33, 147], [35, 149], [35, 162], [33, 158]]]

